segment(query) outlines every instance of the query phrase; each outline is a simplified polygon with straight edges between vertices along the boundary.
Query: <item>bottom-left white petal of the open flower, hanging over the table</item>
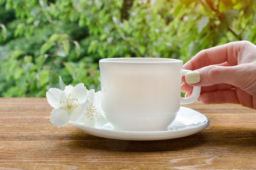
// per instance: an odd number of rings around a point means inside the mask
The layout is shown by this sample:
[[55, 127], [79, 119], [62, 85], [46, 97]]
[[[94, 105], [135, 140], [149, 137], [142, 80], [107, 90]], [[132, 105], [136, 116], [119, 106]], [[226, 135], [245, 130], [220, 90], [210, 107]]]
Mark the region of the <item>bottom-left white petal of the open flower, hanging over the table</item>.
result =
[[52, 110], [50, 121], [54, 126], [65, 126], [70, 121], [67, 110], [56, 108]]

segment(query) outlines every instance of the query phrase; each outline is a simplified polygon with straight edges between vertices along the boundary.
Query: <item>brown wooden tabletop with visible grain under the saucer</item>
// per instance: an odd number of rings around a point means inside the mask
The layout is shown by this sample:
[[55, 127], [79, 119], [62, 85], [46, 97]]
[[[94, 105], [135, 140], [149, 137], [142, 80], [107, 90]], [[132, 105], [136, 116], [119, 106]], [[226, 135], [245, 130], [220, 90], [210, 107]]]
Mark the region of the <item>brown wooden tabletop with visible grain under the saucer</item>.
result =
[[0, 170], [256, 170], [256, 110], [186, 105], [211, 120], [179, 139], [123, 141], [49, 124], [45, 98], [0, 98]]

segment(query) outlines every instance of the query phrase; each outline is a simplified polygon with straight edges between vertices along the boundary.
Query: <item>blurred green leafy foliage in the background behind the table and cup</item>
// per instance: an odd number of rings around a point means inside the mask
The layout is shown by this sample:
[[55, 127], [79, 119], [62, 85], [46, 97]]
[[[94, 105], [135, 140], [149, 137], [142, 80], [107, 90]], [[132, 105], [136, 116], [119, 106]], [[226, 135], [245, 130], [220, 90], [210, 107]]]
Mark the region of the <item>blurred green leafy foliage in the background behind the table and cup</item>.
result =
[[256, 0], [0, 0], [0, 97], [44, 97], [83, 82], [100, 90], [105, 57], [188, 61], [256, 43]]

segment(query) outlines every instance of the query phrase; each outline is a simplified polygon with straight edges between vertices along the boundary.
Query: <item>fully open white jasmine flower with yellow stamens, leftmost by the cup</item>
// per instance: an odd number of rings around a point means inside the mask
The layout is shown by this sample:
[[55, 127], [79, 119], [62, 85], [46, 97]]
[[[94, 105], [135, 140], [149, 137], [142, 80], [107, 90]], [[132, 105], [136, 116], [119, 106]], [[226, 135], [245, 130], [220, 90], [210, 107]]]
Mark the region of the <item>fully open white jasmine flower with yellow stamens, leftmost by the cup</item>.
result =
[[65, 86], [64, 91], [50, 88], [46, 93], [48, 103], [54, 108], [50, 121], [54, 126], [66, 126], [70, 121], [78, 121], [87, 113], [88, 90], [83, 83]]

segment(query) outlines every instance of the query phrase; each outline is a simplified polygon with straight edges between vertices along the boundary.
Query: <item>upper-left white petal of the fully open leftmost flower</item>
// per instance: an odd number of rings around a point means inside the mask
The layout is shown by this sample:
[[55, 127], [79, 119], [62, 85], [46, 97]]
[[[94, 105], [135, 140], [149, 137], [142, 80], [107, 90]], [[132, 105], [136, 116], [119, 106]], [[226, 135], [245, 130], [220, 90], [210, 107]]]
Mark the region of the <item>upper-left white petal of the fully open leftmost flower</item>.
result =
[[46, 98], [47, 102], [53, 107], [53, 108], [60, 108], [61, 103], [60, 103], [60, 98], [62, 95], [63, 91], [58, 88], [50, 88], [46, 92]]

